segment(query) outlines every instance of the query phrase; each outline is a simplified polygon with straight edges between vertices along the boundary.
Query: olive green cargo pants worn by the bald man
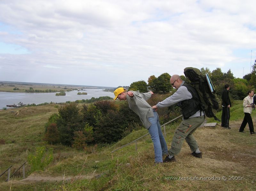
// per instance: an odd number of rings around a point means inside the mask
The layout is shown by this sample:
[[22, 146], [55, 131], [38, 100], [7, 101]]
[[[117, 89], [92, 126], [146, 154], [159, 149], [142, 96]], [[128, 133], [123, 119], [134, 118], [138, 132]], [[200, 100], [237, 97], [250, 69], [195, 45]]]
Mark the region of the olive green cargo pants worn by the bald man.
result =
[[184, 139], [188, 143], [191, 151], [194, 152], [198, 148], [195, 137], [192, 135], [194, 131], [204, 122], [205, 116], [183, 119], [179, 127], [175, 130], [172, 138], [171, 149], [169, 155], [177, 155], [180, 153]]

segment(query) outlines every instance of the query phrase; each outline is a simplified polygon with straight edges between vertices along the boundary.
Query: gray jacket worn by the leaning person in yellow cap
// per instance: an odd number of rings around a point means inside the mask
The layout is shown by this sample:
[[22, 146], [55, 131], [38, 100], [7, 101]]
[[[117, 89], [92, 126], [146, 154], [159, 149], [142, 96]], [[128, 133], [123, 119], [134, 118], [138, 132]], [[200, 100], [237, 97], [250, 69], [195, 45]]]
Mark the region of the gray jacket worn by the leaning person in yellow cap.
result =
[[126, 100], [128, 101], [130, 109], [134, 111], [140, 117], [140, 121], [148, 129], [151, 126], [151, 123], [148, 121], [149, 117], [154, 117], [153, 109], [148, 104], [147, 100], [151, 98], [152, 94], [140, 93], [139, 91], [130, 91], [133, 92], [133, 97], [126, 95]]

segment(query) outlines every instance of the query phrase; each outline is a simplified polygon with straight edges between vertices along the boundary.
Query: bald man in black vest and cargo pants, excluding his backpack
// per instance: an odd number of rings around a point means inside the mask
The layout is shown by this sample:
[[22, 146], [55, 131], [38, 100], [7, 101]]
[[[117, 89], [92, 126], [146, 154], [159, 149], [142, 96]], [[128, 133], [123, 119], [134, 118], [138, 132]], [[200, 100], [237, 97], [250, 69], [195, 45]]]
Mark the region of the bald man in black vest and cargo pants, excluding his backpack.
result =
[[177, 91], [172, 96], [158, 102], [152, 108], [168, 107], [178, 103], [181, 108], [183, 119], [173, 135], [172, 145], [168, 151], [169, 156], [167, 156], [163, 162], [176, 161], [174, 156], [180, 153], [184, 140], [188, 143], [188, 146], [192, 151], [191, 155], [197, 158], [202, 158], [202, 152], [199, 151], [198, 144], [193, 136], [195, 130], [200, 127], [205, 119], [204, 111], [201, 110], [199, 105], [200, 102], [196, 89], [185, 83], [180, 76], [176, 74], [170, 78], [170, 83], [177, 89]]

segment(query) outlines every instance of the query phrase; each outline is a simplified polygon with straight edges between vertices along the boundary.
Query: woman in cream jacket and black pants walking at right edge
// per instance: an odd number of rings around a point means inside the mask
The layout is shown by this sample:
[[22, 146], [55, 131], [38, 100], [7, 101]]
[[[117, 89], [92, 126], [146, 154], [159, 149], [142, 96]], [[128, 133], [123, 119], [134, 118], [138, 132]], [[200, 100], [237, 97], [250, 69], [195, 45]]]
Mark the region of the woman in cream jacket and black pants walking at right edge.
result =
[[246, 124], [248, 123], [249, 125], [249, 129], [250, 129], [250, 133], [255, 134], [254, 132], [254, 128], [253, 128], [253, 123], [252, 123], [252, 117], [251, 117], [251, 113], [252, 113], [252, 104], [253, 104], [253, 91], [250, 90], [247, 92], [247, 95], [244, 98], [244, 102], [243, 102], [243, 106], [244, 106], [244, 120], [240, 126], [239, 132], [244, 133], [244, 128], [246, 126]]

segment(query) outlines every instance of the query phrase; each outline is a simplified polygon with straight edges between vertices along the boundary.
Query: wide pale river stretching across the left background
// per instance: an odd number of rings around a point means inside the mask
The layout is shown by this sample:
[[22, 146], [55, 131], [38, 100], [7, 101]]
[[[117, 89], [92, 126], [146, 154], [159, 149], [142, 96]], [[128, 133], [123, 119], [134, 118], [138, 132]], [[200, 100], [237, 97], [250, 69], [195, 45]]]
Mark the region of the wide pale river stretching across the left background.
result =
[[[40, 104], [48, 102], [60, 103], [66, 101], [76, 101], [81, 99], [99, 98], [101, 96], [109, 96], [114, 98], [113, 92], [103, 92], [104, 89], [85, 89], [87, 95], [77, 95], [78, 91], [66, 92], [65, 96], [56, 96], [54, 93], [14, 93], [14, 92], [0, 92], [0, 109], [6, 105], [13, 105], [22, 102], [23, 104]], [[12, 107], [7, 107], [12, 108]]]

